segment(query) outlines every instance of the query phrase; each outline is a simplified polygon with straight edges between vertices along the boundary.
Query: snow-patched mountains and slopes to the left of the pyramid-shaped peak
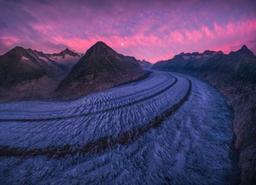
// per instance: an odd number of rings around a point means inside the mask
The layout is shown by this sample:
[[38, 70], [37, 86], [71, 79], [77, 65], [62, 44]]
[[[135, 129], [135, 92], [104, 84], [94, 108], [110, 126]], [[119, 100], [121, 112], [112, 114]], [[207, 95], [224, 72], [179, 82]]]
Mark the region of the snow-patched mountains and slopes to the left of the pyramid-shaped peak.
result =
[[22, 47], [0, 56], [0, 102], [46, 97], [81, 58], [69, 49], [60, 56]]

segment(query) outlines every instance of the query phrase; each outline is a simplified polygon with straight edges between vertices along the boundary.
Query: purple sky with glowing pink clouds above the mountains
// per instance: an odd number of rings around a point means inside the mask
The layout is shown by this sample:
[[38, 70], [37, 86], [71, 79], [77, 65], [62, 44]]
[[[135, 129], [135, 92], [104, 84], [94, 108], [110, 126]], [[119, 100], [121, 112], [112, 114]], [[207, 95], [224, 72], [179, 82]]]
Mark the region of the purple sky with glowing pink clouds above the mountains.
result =
[[[244, 44], [256, 54], [256, 1], [0, 0], [0, 55], [15, 46], [85, 53], [103, 41], [155, 63]], [[123, 43], [123, 45], [122, 45]]]

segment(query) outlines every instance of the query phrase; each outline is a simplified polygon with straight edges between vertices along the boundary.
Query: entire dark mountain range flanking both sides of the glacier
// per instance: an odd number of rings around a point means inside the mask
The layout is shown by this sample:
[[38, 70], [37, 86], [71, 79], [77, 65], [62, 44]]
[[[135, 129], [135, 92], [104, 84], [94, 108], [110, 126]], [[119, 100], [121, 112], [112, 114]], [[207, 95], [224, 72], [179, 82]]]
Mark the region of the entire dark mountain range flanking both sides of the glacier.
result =
[[[0, 56], [0, 103], [39, 98], [76, 99], [119, 84], [146, 78], [152, 64], [118, 54], [99, 41], [83, 55], [15, 47]], [[234, 110], [234, 146], [239, 150], [241, 183], [256, 180], [256, 56], [245, 45], [238, 51], [181, 53], [151, 68], [207, 80], [228, 98]], [[231, 154], [233, 155], [233, 154]]]

